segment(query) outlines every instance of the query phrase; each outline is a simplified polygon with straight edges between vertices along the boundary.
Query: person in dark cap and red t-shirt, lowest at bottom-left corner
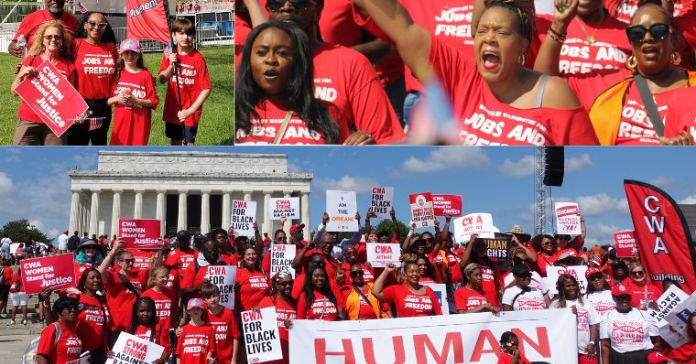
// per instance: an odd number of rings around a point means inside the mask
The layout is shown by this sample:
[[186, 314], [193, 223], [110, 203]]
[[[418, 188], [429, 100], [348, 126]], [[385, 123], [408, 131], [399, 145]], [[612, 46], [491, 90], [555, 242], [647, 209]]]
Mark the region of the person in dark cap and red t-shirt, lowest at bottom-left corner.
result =
[[53, 303], [53, 315], [58, 319], [41, 331], [36, 349], [37, 364], [66, 364], [80, 358], [84, 348], [75, 332], [78, 305], [75, 298], [68, 296]]

